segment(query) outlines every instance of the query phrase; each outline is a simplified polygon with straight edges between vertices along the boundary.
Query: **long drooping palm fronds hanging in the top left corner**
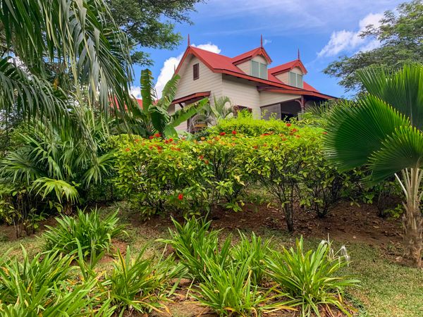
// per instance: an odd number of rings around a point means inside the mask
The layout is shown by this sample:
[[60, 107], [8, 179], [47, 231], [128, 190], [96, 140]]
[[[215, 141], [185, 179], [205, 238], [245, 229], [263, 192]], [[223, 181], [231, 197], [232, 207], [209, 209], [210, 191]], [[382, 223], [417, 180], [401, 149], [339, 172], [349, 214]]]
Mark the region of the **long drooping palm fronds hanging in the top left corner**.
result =
[[55, 124], [85, 103], [125, 118], [130, 54], [110, 21], [102, 0], [0, 0], [0, 104]]

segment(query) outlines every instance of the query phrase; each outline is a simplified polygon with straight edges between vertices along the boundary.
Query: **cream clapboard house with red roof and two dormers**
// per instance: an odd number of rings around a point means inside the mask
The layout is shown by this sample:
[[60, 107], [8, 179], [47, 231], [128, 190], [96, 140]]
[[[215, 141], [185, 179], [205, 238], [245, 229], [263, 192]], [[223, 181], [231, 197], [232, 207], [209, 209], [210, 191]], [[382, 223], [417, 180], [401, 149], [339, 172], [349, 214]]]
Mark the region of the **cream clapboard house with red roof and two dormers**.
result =
[[[235, 57], [188, 47], [175, 73], [180, 75], [176, 97], [169, 111], [204, 97], [227, 96], [235, 109], [248, 109], [255, 118], [298, 116], [311, 104], [333, 99], [303, 79], [307, 70], [300, 59], [271, 66], [263, 44]], [[186, 130], [189, 123], [178, 128]]]

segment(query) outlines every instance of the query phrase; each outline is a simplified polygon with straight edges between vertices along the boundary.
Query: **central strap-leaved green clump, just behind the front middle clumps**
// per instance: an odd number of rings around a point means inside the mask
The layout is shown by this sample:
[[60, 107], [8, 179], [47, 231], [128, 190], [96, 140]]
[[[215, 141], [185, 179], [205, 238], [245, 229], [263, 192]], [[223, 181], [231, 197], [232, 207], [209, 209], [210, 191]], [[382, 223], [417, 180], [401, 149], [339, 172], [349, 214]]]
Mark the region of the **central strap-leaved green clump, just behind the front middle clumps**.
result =
[[201, 280], [207, 276], [209, 268], [205, 259], [226, 268], [231, 261], [231, 239], [228, 237], [219, 248], [219, 231], [209, 230], [211, 221], [197, 220], [194, 216], [186, 219], [184, 225], [175, 219], [172, 221], [176, 230], [169, 228], [171, 239], [159, 241], [173, 247], [180, 263], [188, 268], [193, 278]]

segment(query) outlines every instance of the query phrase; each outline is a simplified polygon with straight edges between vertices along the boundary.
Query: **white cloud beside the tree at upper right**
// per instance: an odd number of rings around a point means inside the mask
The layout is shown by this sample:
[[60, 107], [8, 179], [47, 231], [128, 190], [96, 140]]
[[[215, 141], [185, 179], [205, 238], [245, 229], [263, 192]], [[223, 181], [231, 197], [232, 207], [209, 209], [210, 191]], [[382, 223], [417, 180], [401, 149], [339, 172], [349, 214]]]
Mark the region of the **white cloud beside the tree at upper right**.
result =
[[363, 39], [360, 37], [360, 33], [366, 29], [367, 25], [380, 25], [379, 20], [383, 16], [382, 13], [370, 13], [360, 20], [357, 31], [341, 30], [332, 32], [328, 44], [317, 53], [317, 56], [336, 56], [341, 52], [369, 51], [375, 49], [379, 46], [379, 42], [376, 39]]

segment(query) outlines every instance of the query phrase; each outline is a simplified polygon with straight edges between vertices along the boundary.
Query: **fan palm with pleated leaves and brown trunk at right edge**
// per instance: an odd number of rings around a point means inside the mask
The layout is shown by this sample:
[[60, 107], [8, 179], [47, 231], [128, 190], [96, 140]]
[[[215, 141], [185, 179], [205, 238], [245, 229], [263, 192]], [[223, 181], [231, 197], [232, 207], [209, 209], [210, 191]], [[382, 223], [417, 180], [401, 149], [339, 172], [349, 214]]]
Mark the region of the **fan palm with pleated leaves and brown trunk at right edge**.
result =
[[356, 106], [336, 107], [327, 127], [328, 154], [343, 169], [367, 166], [369, 182], [395, 175], [405, 194], [407, 259], [422, 264], [423, 66], [397, 73], [359, 73], [367, 96]]

